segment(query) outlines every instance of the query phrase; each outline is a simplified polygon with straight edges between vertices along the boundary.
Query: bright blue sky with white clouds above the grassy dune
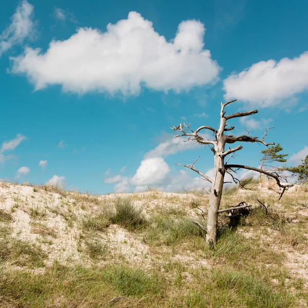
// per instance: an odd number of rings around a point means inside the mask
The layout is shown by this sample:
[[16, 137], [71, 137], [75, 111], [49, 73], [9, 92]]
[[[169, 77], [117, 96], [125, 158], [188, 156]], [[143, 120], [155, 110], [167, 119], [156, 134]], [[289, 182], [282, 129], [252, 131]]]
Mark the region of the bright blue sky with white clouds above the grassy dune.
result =
[[[0, 10], [0, 179], [82, 191], [177, 191], [207, 184], [208, 148], [174, 139], [180, 122], [280, 143], [308, 155], [306, 1], [23, 1]], [[109, 26], [107, 26], [109, 25]], [[234, 163], [259, 165], [257, 144]], [[46, 161], [46, 162], [45, 162]], [[41, 162], [41, 163], [40, 163]], [[190, 171], [190, 172], [189, 172]]]

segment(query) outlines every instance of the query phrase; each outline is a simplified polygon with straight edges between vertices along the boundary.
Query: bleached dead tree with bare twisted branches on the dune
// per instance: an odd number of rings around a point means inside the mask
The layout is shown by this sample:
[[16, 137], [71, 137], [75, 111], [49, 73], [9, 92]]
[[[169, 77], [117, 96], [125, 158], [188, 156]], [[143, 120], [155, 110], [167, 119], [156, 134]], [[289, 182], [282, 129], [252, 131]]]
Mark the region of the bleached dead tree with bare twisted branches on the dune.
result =
[[[220, 111], [220, 125], [218, 130], [210, 126], [201, 126], [195, 131], [190, 128], [190, 125], [186, 125], [185, 123], [182, 125], [174, 126], [172, 129], [175, 133], [178, 133], [177, 137], [188, 137], [188, 140], [195, 141], [199, 144], [209, 145], [211, 151], [214, 153], [214, 175], [213, 179], [209, 178], [207, 175], [203, 174], [201, 171], [194, 167], [195, 163], [197, 162], [198, 158], [192, 163], [191, 165], [182, 165], [188, 169], [191, 169], [197, 172], [204, 180], [211, 183], [211, 190], [210, 190], [210, 197], [209, 197], [209, 204], [208, 204], [208, 213], [207, 213], [207, 226], [206, 226], [206, 242], [213, 246], [216, 243], [217, 238], [217, 224], [218, 224], [218, 213], [219, 213], [219, 205], [222, 196], [222, 189], [224, 184], [224, 176], [226, 172], [230, 174], [233, 180], [238, 183], [240, 182], [236, 179], [231, 172], [236, 172], [238, 169], [243, 168], [247, 170], [253, 170], [256, 172], [261, 172], [262, 174], [266, 175], [267, 177], [273, 178], [276, 180], [277, 185], [282, 189], [280, 192], [280, 198], [282, 197], [284, 191], [292, 186], [293, 184], [289, 183], [282, 183], [281, 178], [278, 174], [268, 172], [266, 170], [261, 170], [259, 168], [249, 167], [245, 165], [238, 165], [238, 164], [228, 164], [228, 160], [225, 163], [225, 157], [230, 155], [232, 157], [233, 153], [242, 149], [242, 145], [236, 146], [234, 148], [225, 149], [226, 144], [233, 144], [236, 142], [257, 142], [263, 144], [265, 146], [274, 145], [275, 143], [265, 143], [264, 138], [268, 129], [266, 129], [263, 137], [259, 139], [258, 137], [252, 137], [248, 135], [242, 136], [232, 136], [229, 134], [225, 134], [225, 132], [233, 130], [235, 127], [231, 126], [227, 128], [227, 120], [246, 117], [247, 115], [255, 114], [258, 110], [252, 111], [245, 111], [245, 112], [237, 112], [234, 114], [226, 115], [224, 109], [230, 103], [235, 102], [236, 100], [229, 101], [225, 104], [221, 103], [221, 111]], [[210, 130], [213, 132], [215, 139], [208, 140], [204, 136], [201, 135], [201, 132], [204, 130]], [[279, 198], [279, 199], [280, 199]]]

